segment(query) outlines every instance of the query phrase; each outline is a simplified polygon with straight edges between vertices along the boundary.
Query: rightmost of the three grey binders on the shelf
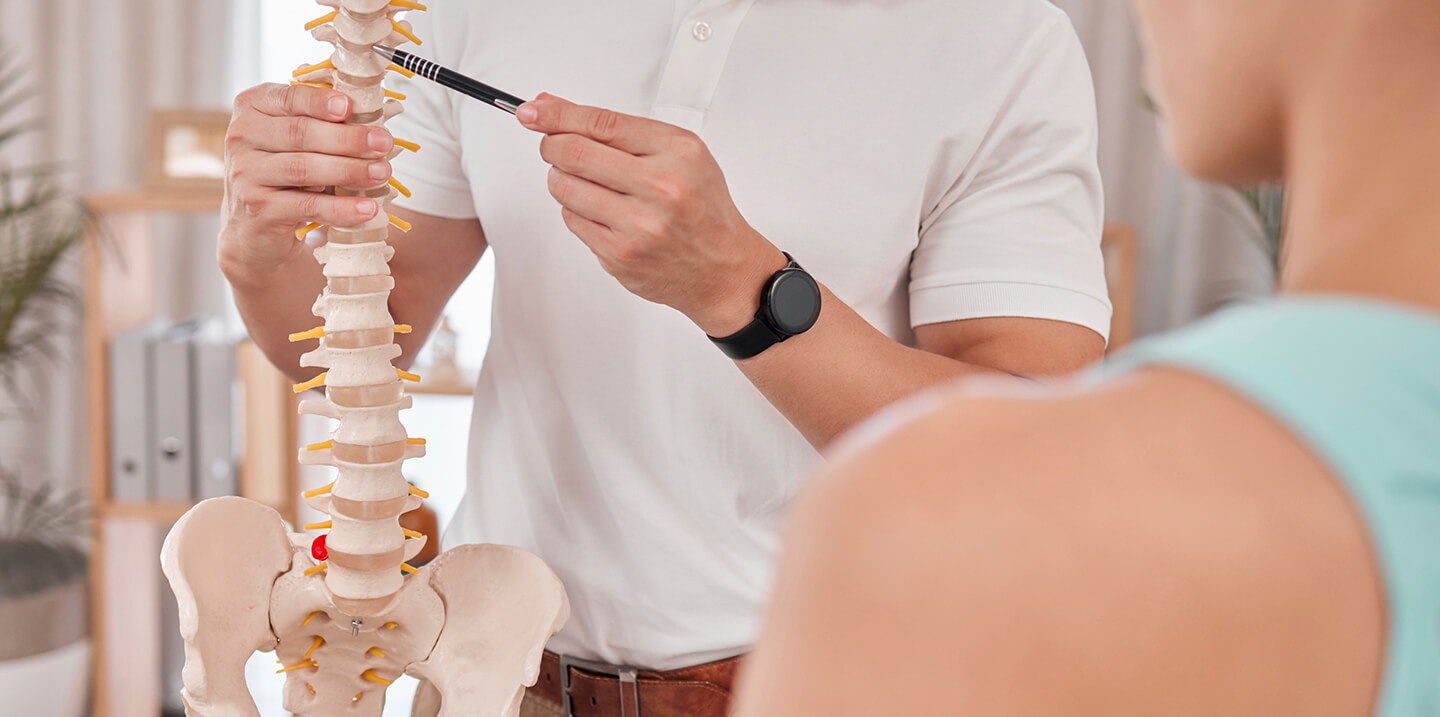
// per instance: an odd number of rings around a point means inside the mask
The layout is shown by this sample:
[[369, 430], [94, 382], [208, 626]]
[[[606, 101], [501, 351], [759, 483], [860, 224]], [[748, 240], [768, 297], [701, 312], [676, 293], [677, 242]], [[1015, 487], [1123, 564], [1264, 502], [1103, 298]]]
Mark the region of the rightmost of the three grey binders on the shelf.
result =
[[236, 340], [217, 323], [194, 337], [194, 500], [236, 495], [239, 485], [239, 407]]

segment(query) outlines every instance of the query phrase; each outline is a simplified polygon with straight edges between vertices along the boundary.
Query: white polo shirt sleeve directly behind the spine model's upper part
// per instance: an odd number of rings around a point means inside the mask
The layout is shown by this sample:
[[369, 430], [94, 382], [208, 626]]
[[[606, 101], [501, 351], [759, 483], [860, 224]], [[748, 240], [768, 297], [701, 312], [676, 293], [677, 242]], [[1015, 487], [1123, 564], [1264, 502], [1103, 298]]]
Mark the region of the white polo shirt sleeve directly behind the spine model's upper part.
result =
[[[446, 9], [449, 10], [449, 9]], [[458, 56], [446, 50], [456, 48], [445, 42], [444, 30], [432, 22], [435, 13], [408, 13], [415, 35], [425, 40], [428, 58], [441, 65], [455, 66]], [[458, 23], [464, 26], [464, 23]], [[402, 151], [395, 158], [395, 176], [410, 190], [396, 206], [422, 215], [445, 219], [474, 219], [475, 197], [462, 163], [459, 121], [455, 98], [435, 82], [390, 73], [389, 85], [406, 95], [405, 111], [390, 120], [387, 128], [399, 140], [420, 145], [420, 151]]]

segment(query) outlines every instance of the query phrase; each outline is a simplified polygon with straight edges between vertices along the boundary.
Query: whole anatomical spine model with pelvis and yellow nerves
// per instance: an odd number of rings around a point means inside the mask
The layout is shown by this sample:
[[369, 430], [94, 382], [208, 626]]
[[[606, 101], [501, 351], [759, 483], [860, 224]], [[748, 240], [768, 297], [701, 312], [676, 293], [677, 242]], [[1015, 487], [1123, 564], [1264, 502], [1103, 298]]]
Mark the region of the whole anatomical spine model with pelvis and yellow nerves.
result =
[[[336, 50], [297, 71], [297, 82], [348, 95], [350, 124], [384, 124], [403, 98], [382, 86], [383, 75], [403, 71], [372, 48], [418, 43], [396, 13], [423, 6], [318, 1], [333, 12], [307, 29]], [[418, 150], [396, 140], [390, 157], [402, 148]], [[324, 324], [291, 337], [318, 340], [301, 366], [325, 369], [295, 386], [325, 389], [324, 400], [301, 402], [301, 413], [338, 422], [330, 441], [301, 451], [302, 464], [336, 468], [334, 482], [305, 494], [330, 515], [305, 528], [328, 533], [291, 534], [278, 513], [243, 498], [204, 501], [180, 518], [161, 564], [180, 603], [187, 713], [256, 716], [245, 662], [274, 649], [294, 713], [379, 716], [386, 685], [409, 672], [435, 684], [442, 716], [513, 717], [546, 641], [569, 616], [564, 589], [540, 559], [514, 547], [461, 546], [419, 570], [406, 563], [426, 541], [399, 524], [425, 497], [400, 472], [425, 454], [399, 419], [410, 407], [403, 380], [418, 377], [392, 366], [400, 354], [395, 334], [409, 328], [389, 312], [395, 251], [386, 238], [389, 225], [408, 226], [386, 207], [406, 190], [392, 181], [334, 191], [373, 197], [380, 212], [364, 225], [328, 229], [315, 249], [327, 287], [314, 314]]]

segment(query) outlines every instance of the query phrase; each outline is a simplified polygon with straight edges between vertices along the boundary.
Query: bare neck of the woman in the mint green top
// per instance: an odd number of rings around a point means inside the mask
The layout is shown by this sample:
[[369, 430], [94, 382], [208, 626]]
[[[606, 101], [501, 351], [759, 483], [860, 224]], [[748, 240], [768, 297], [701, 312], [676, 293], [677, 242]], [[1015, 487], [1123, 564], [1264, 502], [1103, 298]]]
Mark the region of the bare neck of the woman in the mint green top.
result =
[[1440, 48], [1356, 49], [1292, 98], [1280, 291], [1440, 311]]

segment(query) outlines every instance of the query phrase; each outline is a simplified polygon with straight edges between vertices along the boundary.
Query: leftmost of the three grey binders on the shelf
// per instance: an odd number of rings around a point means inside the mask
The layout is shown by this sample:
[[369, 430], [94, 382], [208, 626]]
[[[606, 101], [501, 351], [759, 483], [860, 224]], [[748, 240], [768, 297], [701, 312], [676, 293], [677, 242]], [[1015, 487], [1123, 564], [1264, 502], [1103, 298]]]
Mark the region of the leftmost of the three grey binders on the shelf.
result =
[[117, 335], [109, 344], [109, 492], [121, 502], [151, 498], [150, 325]]

